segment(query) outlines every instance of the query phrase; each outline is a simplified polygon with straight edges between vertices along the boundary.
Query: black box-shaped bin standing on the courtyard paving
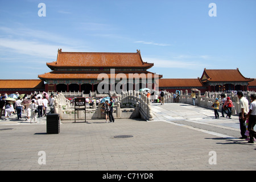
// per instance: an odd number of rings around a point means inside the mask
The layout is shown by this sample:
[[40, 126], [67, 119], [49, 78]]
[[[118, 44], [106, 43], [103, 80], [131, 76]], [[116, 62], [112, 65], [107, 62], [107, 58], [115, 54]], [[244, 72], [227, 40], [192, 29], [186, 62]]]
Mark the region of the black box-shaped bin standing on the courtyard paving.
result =
[[60, 133], [60, 114], [46, 115], [46, 132], [47, 134]]

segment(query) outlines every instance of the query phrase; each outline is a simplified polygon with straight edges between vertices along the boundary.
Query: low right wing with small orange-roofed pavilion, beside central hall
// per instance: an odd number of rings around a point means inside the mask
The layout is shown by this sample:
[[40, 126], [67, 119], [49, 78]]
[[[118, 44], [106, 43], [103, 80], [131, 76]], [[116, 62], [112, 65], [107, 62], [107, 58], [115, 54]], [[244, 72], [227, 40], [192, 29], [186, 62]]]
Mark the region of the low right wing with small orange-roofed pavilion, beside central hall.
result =
[[176, 90], [198, 89], [201, 92], [225, 92], [229, 90], [255, 91], [254, 78], [244, 77], [239, 69], [204, 69], [201, 78], [162, 78], [159, 89]]

